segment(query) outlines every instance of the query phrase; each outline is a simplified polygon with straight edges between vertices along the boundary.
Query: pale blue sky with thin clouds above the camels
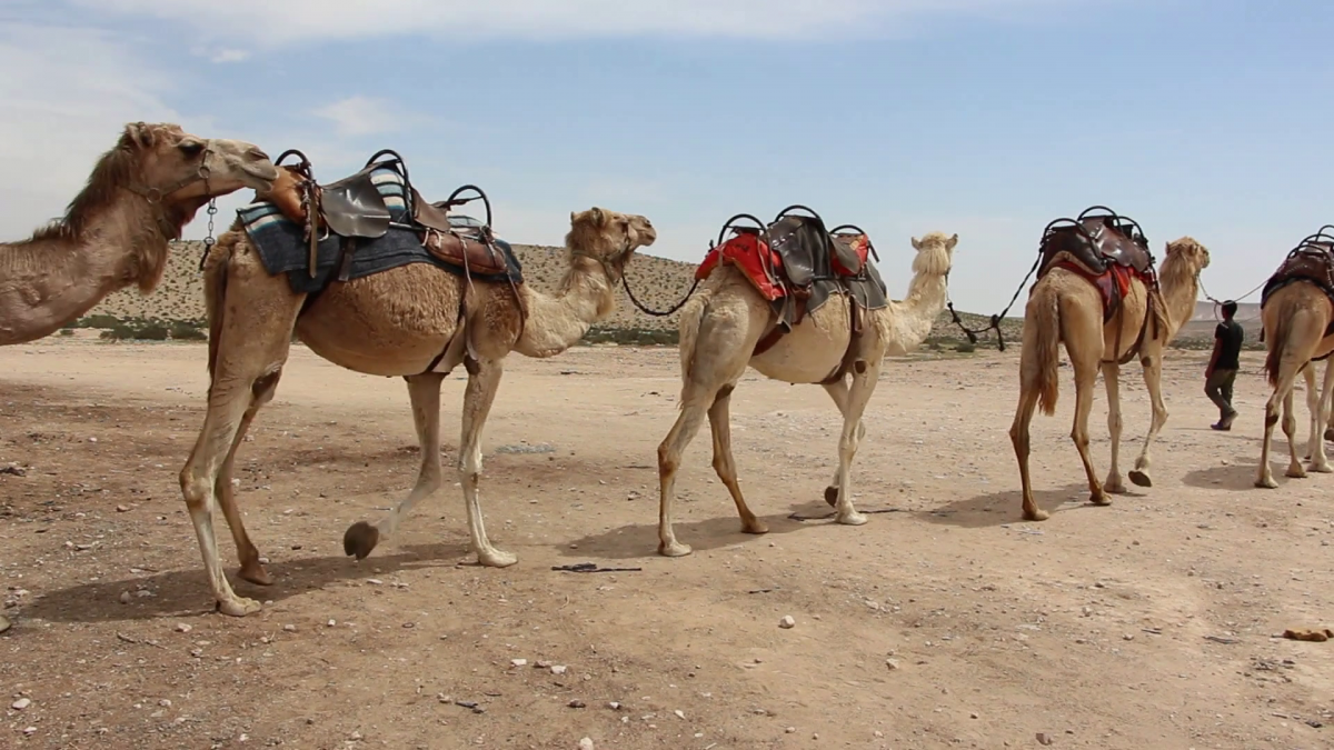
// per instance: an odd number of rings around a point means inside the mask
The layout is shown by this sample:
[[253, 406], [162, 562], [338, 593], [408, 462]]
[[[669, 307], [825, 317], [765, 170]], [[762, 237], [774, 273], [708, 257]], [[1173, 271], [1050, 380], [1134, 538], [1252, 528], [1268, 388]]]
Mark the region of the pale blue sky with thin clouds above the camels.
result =
[[173, 121], [300, 148], [320, 181], [394, 148], [432, 200], [482, 185], [515, 243], [600, 206], [698, 263], [734, 214], [799, 203], [867, 230], [902, 296], [910, 238], [958, 232], [951, 296], [986, 314], [1047, 222], [1105, 204], [1159, 259], [1201, 240], [1209, 292], [1239, 296], [1334, 223], [1331, 21], [1317, 0], [0, 0], [0, 239], [60, 215], [125, 123]]

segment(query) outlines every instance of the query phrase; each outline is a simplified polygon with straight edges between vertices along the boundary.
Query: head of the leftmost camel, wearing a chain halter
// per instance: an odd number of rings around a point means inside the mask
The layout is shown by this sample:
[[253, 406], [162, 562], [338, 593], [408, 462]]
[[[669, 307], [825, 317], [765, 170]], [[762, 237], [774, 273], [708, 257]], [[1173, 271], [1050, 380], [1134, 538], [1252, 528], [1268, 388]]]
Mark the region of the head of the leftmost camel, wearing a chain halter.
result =
[[133, 161], [129, 180], [137, 184], [127, 187], [172, 206], [197, 208], [245, 187], [268, 191], [277, 179], [277, 167], [253, 143], [200, 137], [171, 123], [131, 123], [116, 149]]

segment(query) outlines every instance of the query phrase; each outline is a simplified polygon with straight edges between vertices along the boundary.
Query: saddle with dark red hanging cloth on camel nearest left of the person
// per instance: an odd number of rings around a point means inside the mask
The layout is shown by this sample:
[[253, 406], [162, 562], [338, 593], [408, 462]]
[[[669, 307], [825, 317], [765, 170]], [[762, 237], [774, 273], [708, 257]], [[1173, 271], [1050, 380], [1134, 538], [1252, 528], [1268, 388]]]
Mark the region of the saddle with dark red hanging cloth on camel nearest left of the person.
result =
[[[1139, 330], [1135, 346], [1119, 363], [1125, 364], [1134, 359], [1143, 344], [1146, 331], [1161, 314], [1154, 310], [1155, 299], [1161, 294], [1157, 262], [1139, 224], [1106, 206], [1091, 206], [1074, 219], [1057, 219], [1047, 224], [1042, 231], [1038, 254], [1038, 279], [1053, 268], [1065, 268], [1078, 274], [1098, 290], [1102, 295], [1103, 326], [1121, 312], [1121, 303], [1130, 291], [1131, 278], [1143, 282], [1149, 291], [1145, 326]], [[1119, 351], [1119, 328], [1117, 336], [1117, 351]]]

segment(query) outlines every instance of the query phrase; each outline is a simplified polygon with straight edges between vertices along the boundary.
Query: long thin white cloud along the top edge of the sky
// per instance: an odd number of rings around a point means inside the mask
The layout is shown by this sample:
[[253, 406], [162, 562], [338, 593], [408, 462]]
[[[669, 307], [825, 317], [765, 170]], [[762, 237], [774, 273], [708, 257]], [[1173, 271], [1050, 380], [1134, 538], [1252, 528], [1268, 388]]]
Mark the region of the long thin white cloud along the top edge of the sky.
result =
[[[195, 25], [257, 44], [431, 33], [791, 39], [874, 33], [926, 13], [982, 13], [1107, 0], [68, 0]], [[256, 24], [255, 19], [264, 21]], [[404, 23], [407, 21], [407, 23]]]

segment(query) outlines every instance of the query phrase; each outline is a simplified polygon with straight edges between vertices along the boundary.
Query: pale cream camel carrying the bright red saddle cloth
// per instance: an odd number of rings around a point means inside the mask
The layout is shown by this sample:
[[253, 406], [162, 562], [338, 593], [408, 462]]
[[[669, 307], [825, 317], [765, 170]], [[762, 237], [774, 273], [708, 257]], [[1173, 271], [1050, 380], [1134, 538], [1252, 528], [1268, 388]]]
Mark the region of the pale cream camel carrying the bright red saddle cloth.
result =
[[[850, 526], [866, 523], [866, 516], [852, 507], [851, 466], [858, 444], [866, 435], [862, 414], [875, 392], [880, 364], [887, 354], [900, 355], [916, 348], [931, 332], [946, 304], [946, 284], [952, 266], [954, 247], [959, 235], [946, 236], [931, 232], [918, 240], [912, 238], [916, 258], [912, 260], [912, 282], [902, 300], [890, 300], [887, 307], [870, 311], [870, 324], [859, 339], [852, 367], [851, 387], [847, 378], [826, 384], [843, 415], [839, 436], [839, 467], [824, 499], [836, 510], [836, 520]], [[755, 344], [774, 326], [774, 312], [755, 287], [734, 266], [719, 266], [700, 284], [699, 292], [680, 314], [680, 415], [667, 438], [658, 446], [658, 476], [660, 506], [658, 520], [658, 552], [666, 556], [688, 555], [691, 548], [676, 540], [672, 530], [672, 500], [676, 471], [682, 454], [708, 415], [714, 438], [714, 470], [727, 486], [742, 531], [764, 534], [768, 527], [746, 507], [736, 479], [732, 458], [728, 403], [732, 390], [754, 367], [762, 375], [784, 383], [819, 383], [832, 372], [848, 348], [850, 304], [844, 295], [831, 295], [828, 302], [798, 323], [771, 348], [752, 356]]]

